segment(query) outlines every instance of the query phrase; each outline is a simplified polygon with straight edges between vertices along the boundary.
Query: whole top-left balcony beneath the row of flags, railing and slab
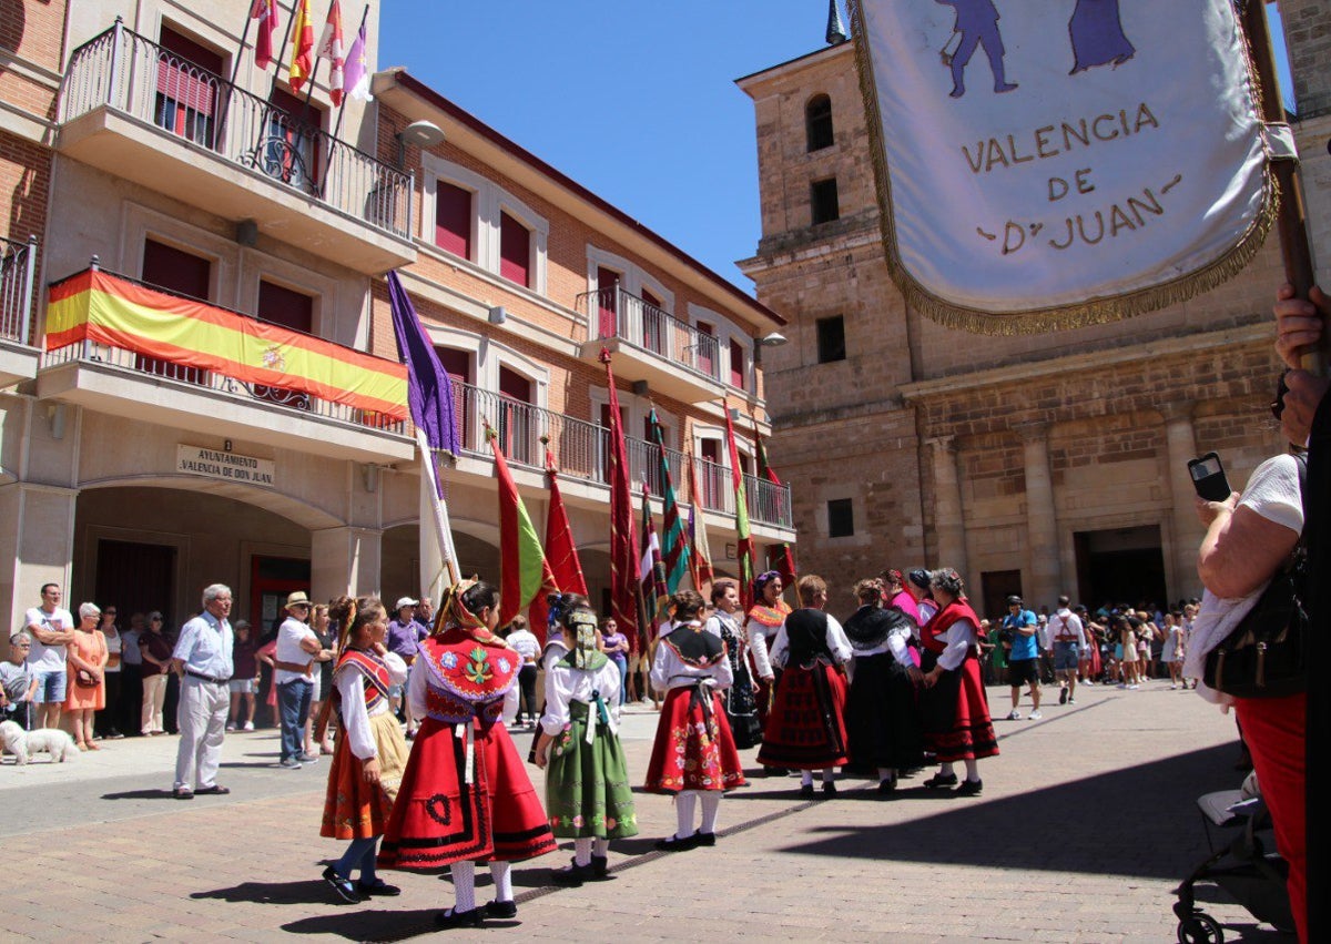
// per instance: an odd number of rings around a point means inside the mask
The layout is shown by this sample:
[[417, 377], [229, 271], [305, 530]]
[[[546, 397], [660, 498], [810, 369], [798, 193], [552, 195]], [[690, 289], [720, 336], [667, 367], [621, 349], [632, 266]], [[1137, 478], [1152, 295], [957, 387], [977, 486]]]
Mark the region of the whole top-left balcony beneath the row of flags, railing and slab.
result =
[[357, 272], [415, 261], [413, 177], [118, 19], [73, 51], [57, 149]]

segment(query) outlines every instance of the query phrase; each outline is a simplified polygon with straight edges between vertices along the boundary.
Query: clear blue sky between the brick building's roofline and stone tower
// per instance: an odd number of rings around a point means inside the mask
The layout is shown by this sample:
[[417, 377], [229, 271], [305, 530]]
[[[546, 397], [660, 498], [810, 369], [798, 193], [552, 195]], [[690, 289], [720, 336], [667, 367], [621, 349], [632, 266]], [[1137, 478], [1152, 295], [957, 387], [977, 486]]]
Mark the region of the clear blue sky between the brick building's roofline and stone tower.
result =
[[378, 67], [406, 65], [751, 292], [735, 260], [757, 249], [757, 152], [753, 104], [735, 79], [823, 48], [827, 8], [389, 0]]

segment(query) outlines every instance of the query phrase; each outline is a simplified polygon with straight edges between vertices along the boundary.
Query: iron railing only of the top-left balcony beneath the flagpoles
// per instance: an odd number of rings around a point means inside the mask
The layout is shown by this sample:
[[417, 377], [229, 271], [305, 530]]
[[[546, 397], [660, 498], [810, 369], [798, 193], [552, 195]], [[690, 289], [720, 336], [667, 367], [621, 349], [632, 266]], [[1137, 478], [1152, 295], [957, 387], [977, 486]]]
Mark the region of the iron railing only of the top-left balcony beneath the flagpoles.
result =
[[118, 19], [75, 49], [60, 87], [61, 124], [101, 107], [410, 237], [410, 174], [144, 39]]

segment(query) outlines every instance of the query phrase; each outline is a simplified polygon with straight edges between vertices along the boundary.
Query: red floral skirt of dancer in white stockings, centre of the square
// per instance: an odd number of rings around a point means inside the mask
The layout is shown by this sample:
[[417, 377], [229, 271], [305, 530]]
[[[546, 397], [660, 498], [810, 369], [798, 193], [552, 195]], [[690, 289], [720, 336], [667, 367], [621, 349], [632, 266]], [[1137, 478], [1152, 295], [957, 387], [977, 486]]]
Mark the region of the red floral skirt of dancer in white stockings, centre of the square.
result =
[[647, 766], [647, 790], [654, 794], [747, 786], [721, 696], [708, 688], [711, 711], [704, 712], [696, 692], [695, 686], [688, 686], [666, 695]]

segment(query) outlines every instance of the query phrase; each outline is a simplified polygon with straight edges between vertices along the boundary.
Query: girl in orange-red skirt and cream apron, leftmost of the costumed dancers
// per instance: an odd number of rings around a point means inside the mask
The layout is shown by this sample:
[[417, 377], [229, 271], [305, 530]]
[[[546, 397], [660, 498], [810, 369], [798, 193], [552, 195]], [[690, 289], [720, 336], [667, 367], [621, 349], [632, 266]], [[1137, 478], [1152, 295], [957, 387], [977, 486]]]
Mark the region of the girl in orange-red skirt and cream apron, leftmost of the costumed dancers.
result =
[[[369, 896], [398, 895], [374, 875], [374, 845], [389, 822], [407, 762], [407, 742], [389, 708], [389, 688], [406, 682], [407, 667], [383, 644], [389, 618], [378, 596], [343, 596], [333, 604], [331, 615], [343, 627], [331, 695], [341, 735], [319, 835], [351, 840], [342, 857], [323, 869], [323, 880], [342, 901], [357, 904]], [[355, 884], [353, 868], [361, 869]]]

